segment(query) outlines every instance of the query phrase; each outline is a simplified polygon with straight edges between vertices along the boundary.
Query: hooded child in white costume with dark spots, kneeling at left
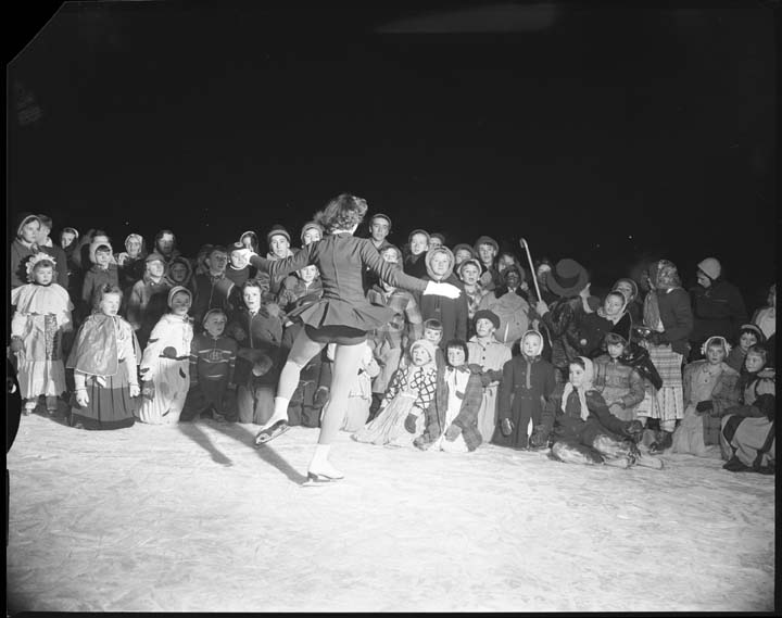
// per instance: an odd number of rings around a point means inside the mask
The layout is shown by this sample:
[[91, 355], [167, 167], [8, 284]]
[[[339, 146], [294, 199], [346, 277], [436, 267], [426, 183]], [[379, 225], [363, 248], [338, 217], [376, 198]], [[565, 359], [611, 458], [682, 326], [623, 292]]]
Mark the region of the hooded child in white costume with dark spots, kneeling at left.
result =
[[171, 425], [179, 421], [190, 389], [192, 320], [188, 316], [192, 292], [177, 286], [168, 291], [169, 313], [152, 329], [141, 358], [141, 422]]

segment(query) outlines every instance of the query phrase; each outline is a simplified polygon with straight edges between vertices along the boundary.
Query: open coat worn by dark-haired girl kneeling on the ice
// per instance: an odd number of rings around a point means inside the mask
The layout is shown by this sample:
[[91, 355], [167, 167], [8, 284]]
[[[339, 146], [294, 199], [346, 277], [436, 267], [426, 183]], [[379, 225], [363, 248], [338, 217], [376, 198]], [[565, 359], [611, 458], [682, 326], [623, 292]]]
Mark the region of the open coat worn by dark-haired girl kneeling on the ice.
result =
[[[434, 399], [426, 411], [425, 429], [415, 440], [416, 445], [427, 445], [434, 442], [445, 431], [445, 412], [447, 409], [449, 387], [445, 380], [446, 371], [451, 367], [440, 367], [438, 369], [437, 390]], [[455, 371], [470, 371], [467, 365], [456, 367]], [[462, 428], [462, 436], [469, 451], [475, 451], [481, 443], [481, 434], [478, 431], [478, 409], [480, 408], [483, 398], [483, 386], [480, 376], [470, 371], [464, 393], [456, 393], [462, 399], [462, 407], [459, 413], [452, 421]]]

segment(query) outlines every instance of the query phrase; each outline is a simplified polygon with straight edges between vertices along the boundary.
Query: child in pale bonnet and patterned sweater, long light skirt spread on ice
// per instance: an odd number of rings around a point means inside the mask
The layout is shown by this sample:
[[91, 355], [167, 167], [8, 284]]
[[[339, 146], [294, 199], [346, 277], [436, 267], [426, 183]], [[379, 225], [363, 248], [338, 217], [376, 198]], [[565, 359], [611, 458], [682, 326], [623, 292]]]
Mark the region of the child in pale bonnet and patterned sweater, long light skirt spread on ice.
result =
[[438, 380], [434, 345], [426, 339], [414, 341], [409, 356], [409, 365], [394, 374], [375, 420], [353, 434], [357, 442], [406, 446], [424, 429]]

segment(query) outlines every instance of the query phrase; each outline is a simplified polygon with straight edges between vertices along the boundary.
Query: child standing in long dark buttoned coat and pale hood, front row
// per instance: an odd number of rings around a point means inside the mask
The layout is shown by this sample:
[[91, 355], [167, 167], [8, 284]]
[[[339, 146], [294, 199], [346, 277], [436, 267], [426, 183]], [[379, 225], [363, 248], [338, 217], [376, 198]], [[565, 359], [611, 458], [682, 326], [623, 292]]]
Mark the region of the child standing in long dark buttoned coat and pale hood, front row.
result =
[[554, 365], [541, 357], [543, 336], [540, 332], [525, 332], [520, 350], [518, 356], [503, 366], [499, 422], [492, 443], [524, 450], [528, 447], [530, 420], [532, 427], [541, 424], [543, 406], [554, 392], [556, 378]]

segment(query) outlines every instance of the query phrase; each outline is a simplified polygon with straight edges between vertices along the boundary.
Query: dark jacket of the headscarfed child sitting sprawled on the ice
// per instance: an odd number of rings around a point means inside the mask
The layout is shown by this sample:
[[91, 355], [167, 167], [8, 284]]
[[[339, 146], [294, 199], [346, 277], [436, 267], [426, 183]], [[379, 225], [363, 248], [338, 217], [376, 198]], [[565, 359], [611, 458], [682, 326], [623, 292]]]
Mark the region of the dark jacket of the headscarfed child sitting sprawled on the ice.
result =
[[[566, 412], [562, 409], [562, 398], [565, 384], [557, 384], [556, 389], [548, 398], [546, 406], [543, 408], [541, 419], [542, 431], [551, 436], [554, 431], [554, 440], [575, 440], [579, 441], [581, 433], [586, 429], [589, 424], [598, 424], [608, 431], [617, 436], [625, 434], [626, 422], [614, 416], [606, 405], [603, 395], [595, 390], [586, 391], [584, 399], [589, 408], [586, 420], [581, 419], [581, 403], [579, 402], [578, 392], [572, 390], [565, 404]], [[537, 428], [535, 428], [537, 429]]]

